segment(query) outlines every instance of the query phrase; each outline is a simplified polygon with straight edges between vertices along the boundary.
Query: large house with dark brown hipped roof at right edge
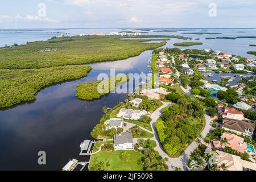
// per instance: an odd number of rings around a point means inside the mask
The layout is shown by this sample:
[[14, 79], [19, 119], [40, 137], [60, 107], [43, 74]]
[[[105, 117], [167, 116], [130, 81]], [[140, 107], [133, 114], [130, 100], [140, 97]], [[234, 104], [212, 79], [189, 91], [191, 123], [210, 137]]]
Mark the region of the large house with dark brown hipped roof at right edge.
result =
[[221, 127], [226, 131], [233, 131], [238, 135], [245, 135], [249, 138], [253, 137], [253, 134], [255, 131], [254, 123], [241, 121], [238, 119], [230, 119], [230, 118], [225, 118], [223, 120], [223, 125]]

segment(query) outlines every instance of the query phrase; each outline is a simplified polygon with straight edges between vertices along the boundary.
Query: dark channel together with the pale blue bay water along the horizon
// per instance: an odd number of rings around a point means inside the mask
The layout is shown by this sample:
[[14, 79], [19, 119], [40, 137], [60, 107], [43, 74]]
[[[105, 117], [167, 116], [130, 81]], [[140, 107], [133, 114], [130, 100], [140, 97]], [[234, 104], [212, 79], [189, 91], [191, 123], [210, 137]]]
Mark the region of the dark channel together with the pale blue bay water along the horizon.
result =
[[[27, 33], [0, 33], [0, 47], [5, 44], [26, 43], [33, 40], [46, 40], [59, 33], [69, 32], [70, 35], [90, 34], [119, 29], [69, 29], [69, 30], [40, 30]], [[194, 32], [198, 32], [196, 30]], [[182, 35], [200, 38], [203, 46], [189, 48], [219, 49], [234, 54], [249, 56], [247, 51], [255, 51], [249, 44], [256, 44], [256, 39], [237, 40], [205, 40], [210, 36], [256, 36], [255, 30], [208, 30], [209, 32], [224, 32], [223, 35], [187, 35], [181, 32], [156, 33], [151, 35]], [[185, 31], [188, 32], [188, 31]], [[174, 47], [175, 42], [187, 40], [171, 39], [164, 47]], [[90, 132], [102, 117], [103, 106], [113, 107], [123, 102], [127, 94], [109, 94], [92, 102], [80, 101], [75, 97], [76, 85], [81, 82], [96, 81], [100, 73], [110, 73], [115, 68], [117, 73], [147, 73], [147, 60], [151, 51], [145, 51], [137, 57], [111, 63], [90, 64], [93, 70], [87, 77], [80, 80], [49, 86], [38, 93], [37, 100], [31, 104], [16, 106], [9, 110], [0, 111], [0, 170], [60, 170], [69, 159], [77, 158], [79, 144], [90, 138]], [[250, 56], [252, 57], [252, 56]], [[38, 151], [46, 151], [47, 165], [39, 166]]]

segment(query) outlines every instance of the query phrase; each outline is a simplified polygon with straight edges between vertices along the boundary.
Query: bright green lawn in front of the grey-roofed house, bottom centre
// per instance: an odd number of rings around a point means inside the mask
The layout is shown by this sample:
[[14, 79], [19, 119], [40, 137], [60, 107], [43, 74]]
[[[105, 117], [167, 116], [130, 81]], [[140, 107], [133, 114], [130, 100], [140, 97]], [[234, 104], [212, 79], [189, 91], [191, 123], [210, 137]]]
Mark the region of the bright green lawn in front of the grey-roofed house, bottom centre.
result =
[[[128, 162], [125, 162], [120, 158], [120, 152], [121, 151], [98, 152], [97, 154], [92, 155], [90, 159], [90, 167], [96, 163], [97, 158], [98, 162], [102, 161], [105, 163], [105, 171], [143, 171], [142, 167], [137, 164], [138, 160], [145, 158], [143, 154], [133, 150], [126, 151], [130, 154], [130, 159]], [[106, 166], [107, 161], [109, 161], [109, 167]]]

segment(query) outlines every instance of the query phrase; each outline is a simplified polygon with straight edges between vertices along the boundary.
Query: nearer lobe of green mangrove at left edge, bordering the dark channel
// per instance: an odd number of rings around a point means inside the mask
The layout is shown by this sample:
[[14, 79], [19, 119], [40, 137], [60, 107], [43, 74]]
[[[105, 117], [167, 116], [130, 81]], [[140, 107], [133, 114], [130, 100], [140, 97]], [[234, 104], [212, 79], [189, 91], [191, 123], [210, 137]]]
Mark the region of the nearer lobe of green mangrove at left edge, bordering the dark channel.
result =
[[85, 77], [87, 66], [42, 69], [0, 69], [0, 108], [33, 101], [40, 89], [63, 81]]

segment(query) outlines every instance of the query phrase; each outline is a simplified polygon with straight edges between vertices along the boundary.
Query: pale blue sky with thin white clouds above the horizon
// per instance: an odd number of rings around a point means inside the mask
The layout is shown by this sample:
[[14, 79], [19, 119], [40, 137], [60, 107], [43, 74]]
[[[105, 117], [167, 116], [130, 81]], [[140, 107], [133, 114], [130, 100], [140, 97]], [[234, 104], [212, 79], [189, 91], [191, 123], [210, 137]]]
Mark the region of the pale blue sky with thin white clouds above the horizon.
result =
[[[1, 1], [0, 28], [256, 27], [255, 0]], [[39, 3], [46, 5], [46, 16], [38, 14]], [[209, 16], [210, 3], [217, 16]]]

